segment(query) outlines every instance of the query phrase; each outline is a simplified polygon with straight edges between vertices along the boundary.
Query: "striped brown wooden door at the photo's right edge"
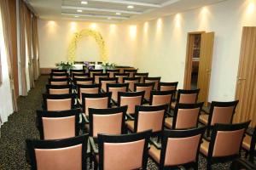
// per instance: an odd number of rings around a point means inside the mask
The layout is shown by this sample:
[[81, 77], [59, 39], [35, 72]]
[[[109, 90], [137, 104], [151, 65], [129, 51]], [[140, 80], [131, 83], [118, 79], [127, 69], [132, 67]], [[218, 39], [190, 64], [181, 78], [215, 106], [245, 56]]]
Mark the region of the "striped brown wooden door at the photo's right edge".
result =
[[236, 82], [239, 103], [234, 122], [251, 120], [256, 125], [256, 27], [243, 27]]

